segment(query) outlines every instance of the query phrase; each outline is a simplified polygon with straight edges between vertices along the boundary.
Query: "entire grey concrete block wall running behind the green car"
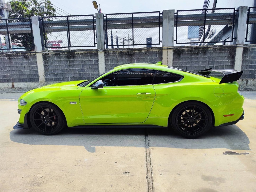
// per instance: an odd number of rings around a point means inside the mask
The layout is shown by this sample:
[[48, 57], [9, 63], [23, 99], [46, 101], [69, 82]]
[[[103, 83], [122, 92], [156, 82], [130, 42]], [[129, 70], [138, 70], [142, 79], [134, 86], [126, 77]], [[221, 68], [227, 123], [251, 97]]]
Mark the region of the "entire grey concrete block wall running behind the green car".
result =
[[[234, 69], [236, 47], [188, 46], [174, 47], [173, 66], [189, 71]], [[105, 71], [126, 63], [156, 63], [163, 60], [162, 48], [108, 49], [103, 52], [100, 63]], [[239, 80], [240, 90], [256, 90], [256, 44], [243, 47], [243, 75]], [[18, 86], [43, 86], [54, 82], [92, 79], [99, 75], [99, 52], [96, 49], [83, 51], [42, 52], [38, 62], [35, 52], [0, 53], [0, 88]], [[101, 58], [102, 59], [102, 58]], [[43, 74], [39, 82], [39, 74]], [[102, 70], [103, 71], [103, 70]]]

